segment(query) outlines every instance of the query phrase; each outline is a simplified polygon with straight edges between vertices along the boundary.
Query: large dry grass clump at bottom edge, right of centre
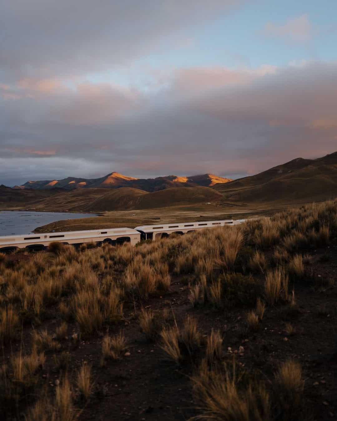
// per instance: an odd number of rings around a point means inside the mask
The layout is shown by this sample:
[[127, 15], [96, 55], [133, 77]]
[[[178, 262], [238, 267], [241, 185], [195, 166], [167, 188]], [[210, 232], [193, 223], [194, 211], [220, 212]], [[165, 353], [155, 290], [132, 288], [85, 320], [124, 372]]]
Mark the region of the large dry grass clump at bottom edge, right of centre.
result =
[[281, 364], [274, 380], [265, 383], [233, 364], [210, 369], [203, 360], [193, 376], [193, 392], [200, 415], [194, 420], [295, 421], [303, 419], [301, 366], [292, 360]]

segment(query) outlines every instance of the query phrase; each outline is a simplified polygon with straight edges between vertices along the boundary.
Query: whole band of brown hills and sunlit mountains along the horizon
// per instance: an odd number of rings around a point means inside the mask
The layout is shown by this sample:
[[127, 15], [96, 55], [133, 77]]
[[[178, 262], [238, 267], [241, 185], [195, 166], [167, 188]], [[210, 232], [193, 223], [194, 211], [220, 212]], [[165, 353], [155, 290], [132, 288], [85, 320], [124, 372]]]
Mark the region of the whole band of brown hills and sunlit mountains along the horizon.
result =
[[308, 203], [337, 197], [337, 152], [317, 159], [296, 158], [237, 180], [203, 174], [135, 179], [110, 173], [100, 179], [27, 181], [0, 186], [0, 209], [106, 210], [155, 209], [186, 205], [217, 206]]

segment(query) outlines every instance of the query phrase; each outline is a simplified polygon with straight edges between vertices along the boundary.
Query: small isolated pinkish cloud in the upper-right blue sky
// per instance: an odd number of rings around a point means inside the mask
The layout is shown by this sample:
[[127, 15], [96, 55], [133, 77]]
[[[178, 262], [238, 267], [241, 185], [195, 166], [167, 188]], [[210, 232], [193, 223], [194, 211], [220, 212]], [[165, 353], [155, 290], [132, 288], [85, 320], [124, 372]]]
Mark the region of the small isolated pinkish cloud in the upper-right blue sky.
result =
[[296, 41], [305, 43], [313, 35], [313, 26], [310, 23], [308, 15], [304, 14], [296, 18], [288, 19], [285, 24], [277, 25], [268, 22], [265, 25], [263, 33], [267, 36], [283, 38], [286, 41]]

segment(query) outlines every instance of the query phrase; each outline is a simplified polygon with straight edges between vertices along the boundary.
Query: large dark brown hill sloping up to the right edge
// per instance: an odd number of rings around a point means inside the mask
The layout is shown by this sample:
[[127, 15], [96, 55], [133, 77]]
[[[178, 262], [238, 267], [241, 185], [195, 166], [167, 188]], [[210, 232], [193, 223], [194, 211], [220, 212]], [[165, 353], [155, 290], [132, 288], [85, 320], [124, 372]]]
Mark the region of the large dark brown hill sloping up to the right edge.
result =
[[337, 152], [315, 160], [296, 158], [250, 177], [216, 184], [226, 200], [284, 202], [337, 196]]

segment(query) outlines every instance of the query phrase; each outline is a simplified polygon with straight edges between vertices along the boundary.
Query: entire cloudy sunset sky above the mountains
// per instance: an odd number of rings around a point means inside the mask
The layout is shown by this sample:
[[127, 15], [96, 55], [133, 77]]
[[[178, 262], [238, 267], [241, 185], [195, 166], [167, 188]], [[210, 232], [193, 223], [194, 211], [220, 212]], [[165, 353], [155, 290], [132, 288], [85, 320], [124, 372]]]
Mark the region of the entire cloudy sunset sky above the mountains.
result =
[[337, 150], [334, 0], [5, 0], [0, 184]]

